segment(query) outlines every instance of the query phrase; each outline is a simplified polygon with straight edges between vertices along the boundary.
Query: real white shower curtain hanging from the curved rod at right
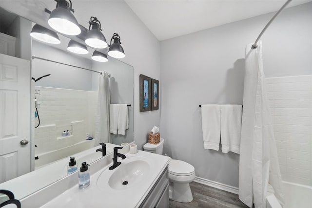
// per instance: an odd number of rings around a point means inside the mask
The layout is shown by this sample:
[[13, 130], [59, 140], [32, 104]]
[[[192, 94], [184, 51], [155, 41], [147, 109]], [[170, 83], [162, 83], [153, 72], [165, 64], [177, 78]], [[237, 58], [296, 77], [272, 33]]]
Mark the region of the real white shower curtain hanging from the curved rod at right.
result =
[[250, 208], [266, 208], [268, 184], [283, 204], [277, 149], [265, 89], [262, 43], [246, 46], [243, 117], [239, 156], [239, 199]]

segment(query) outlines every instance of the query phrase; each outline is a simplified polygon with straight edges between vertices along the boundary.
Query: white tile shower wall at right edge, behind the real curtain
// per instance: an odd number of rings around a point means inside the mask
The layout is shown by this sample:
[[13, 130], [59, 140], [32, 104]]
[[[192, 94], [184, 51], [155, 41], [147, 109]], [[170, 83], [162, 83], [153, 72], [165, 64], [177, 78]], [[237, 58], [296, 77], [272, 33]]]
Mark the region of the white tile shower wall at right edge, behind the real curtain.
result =
[[266, 81], [282, 179], [312, 186], [312, 75]]

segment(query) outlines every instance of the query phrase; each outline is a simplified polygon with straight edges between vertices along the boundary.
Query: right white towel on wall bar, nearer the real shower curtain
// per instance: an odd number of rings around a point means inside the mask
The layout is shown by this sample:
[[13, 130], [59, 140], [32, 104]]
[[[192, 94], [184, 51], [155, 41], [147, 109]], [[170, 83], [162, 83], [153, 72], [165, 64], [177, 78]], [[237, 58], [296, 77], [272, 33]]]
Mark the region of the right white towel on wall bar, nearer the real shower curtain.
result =
[[239, 154], [243, 107], [242, 105], [221, 105], [220, 108], [222, 152], [233, 151]]

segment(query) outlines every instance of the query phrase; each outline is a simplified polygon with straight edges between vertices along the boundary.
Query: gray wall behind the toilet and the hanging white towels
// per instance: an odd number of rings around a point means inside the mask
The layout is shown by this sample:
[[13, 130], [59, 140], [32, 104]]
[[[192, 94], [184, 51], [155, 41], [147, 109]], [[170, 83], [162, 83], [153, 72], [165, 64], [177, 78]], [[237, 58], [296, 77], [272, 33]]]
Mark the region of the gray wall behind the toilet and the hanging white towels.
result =
[[[312, 74], [312, 3], [283, 11], [264, 34], [267, 77]], [[273, 14], [161, 41], [164, 153], [196, 176], [238, 187], [239, 155], [204, 150], [199, 104], [242, 104], [245, 46]]]

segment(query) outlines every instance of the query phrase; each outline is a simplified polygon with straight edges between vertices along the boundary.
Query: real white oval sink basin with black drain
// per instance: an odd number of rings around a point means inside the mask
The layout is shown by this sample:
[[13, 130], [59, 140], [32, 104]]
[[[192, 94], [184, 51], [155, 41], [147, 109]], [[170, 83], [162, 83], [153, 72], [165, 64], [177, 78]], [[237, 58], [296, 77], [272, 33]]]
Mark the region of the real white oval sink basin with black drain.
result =
[[120, 160], [121, 164], [114, 170], [105, 169], [99, 176], [99, 189], [129, 189], [144, 183], [151, 170], [149, 158], [142, 156]]

